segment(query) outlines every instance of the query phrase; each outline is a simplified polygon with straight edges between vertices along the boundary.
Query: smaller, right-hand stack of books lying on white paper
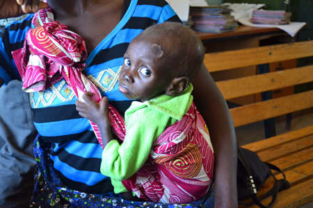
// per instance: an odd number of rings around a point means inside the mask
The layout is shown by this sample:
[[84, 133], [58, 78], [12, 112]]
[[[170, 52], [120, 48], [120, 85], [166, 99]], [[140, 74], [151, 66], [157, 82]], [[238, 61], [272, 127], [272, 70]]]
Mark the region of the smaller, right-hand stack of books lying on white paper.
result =
[[284, 10], [254, 10], [250, 22], [253, 24], [289, 24], [291, 12]]

